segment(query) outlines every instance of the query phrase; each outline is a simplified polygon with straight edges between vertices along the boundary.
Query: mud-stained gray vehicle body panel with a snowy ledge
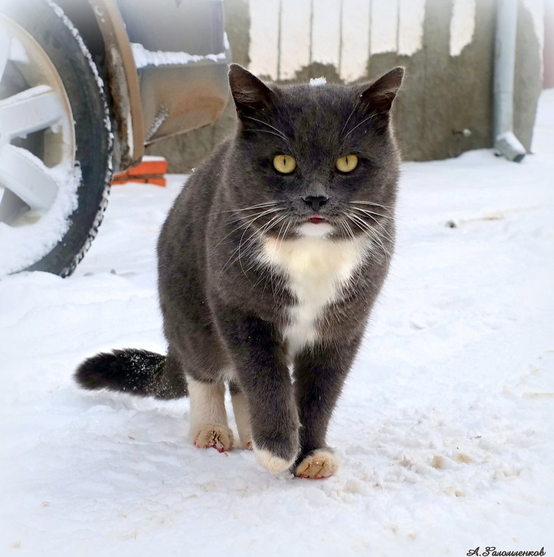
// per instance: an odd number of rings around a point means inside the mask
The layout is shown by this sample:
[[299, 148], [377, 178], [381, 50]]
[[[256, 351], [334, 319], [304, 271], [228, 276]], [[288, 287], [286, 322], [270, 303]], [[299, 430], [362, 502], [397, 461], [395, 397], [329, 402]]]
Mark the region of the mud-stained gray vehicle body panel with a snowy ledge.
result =
[[[154, 63], [138, 67], [145, 143], [215, 122], [228, 98], [222, 0], [117, 0], [131, 43], [140, 45]], [[225, 53], [217, 60], [203, 59]], [[186, 63], [179, 60], [193, 57]]]

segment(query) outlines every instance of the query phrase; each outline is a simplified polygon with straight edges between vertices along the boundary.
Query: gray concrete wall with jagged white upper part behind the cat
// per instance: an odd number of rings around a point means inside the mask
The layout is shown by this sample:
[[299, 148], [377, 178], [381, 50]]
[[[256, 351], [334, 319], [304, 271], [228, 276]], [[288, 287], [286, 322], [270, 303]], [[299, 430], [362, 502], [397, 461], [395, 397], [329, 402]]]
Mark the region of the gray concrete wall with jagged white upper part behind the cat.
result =
[[[395, 108], [404, 159], [491, 147], [494, 0], [226, 0], [225, 8], [234, 60], [265, 79], [363, 82], [405, 66]], [[528, 149], [543, 21], [544, 0], [521, 0], [514, 131]], [[231, 102], [213, 126], [147, 152], [165, 156], [172, 172], [188, 172], [234, 125]]]

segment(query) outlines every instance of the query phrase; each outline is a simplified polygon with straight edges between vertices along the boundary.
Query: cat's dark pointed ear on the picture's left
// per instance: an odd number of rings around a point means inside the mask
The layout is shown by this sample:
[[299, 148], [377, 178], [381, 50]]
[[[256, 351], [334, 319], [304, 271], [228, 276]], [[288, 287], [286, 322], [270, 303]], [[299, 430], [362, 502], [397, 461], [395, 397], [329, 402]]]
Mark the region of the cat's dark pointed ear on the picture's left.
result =
[[275, 93], [263, 81], [238, 64], [229, 66], [229, 86], [239, 117], [264, 112], [275, 99]]

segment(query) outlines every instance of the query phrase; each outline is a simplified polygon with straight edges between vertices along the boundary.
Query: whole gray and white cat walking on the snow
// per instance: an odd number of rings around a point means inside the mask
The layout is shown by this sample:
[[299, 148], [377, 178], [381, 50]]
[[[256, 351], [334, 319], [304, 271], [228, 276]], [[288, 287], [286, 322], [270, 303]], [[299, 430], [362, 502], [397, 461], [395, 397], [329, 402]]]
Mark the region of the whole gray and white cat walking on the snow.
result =
[[263, 467], [334, 474], [327, 426], [393, 251], [389, 111], [403, 74], [277, 86], [231, 65], [236, 134], [190, 177], [158, 241], [168, 355], [99, 354], [79, 384], [188, 394], [192, 442], [227, 451], [228, 382], [241, 444]]

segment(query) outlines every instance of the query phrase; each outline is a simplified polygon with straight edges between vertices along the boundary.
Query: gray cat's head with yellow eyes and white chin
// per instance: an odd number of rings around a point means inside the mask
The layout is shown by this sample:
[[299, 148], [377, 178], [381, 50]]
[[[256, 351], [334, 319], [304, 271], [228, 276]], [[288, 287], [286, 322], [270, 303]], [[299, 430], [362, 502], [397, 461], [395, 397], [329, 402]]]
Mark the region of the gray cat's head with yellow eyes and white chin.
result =
[[391, 219], [399, 157], [389, 113], [403, 74], [277, 86], [231, 65], [239, 124], [225, 181], [243, 221], [272, 236], [347, 238]]

